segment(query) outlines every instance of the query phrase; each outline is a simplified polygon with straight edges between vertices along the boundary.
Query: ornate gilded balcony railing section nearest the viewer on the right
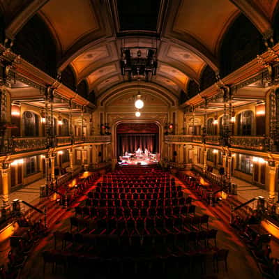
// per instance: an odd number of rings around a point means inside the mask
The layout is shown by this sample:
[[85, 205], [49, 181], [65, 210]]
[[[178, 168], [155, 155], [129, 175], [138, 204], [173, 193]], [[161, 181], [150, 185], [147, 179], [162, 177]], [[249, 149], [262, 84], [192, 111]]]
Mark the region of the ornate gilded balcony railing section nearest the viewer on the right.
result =
[[241, 149], [266, 149], [266, 138], [258, 136], [241, 136], [234, 135], [229, 138], [230, 145], [232, 147], [239, 147]]

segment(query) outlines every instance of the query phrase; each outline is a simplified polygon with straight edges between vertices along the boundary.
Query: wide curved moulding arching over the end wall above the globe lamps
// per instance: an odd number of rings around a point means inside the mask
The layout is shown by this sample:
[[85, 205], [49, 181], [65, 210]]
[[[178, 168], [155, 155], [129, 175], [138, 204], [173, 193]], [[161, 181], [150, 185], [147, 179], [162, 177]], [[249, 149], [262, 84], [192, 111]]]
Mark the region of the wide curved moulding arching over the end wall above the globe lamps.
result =
[[156, 93], [156, 95], [160, 96], [161, 98], [164, 97], [168, 100], [169, 104], [171, 106], [175, 106], [178, 104], [178, 97], [175, 96], [173, 93], [171, 93], [169, 90], [165, 89], [163, 86], [160, 86], [158, 84], [137, 84], [135, 82], [133, 83], [119, 83], [116, 84], [116, 86], [113, 86], [111, 89], [107, 90], [102, 95], [98, 96], [98, 105], [103, 106], [107, 100], [110, 100], [115, 95], [119, 95], [123, 93], [123, 91], [149, 91]]

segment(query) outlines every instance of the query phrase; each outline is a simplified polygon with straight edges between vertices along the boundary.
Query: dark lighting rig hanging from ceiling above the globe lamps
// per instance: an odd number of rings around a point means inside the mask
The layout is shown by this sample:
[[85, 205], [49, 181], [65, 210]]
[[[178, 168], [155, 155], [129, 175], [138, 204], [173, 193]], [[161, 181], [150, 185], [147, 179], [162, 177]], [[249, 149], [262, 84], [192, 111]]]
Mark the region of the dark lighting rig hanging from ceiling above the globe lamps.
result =
[[148, 82], [157, 70], [156, 47], [122, 47], [121, 75], [130, 82], [133, 78], [142, 78]]

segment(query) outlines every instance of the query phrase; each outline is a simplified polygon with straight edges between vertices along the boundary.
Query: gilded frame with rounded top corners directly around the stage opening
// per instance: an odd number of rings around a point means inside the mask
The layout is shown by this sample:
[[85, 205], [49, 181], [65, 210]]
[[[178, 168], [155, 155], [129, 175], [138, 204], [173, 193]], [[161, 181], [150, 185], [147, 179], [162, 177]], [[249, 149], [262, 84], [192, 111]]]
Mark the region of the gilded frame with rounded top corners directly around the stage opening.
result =
[[163, 126], [164, 123], [160, 123], [160, 121], [158, 120], [153, 120], [153, 119], [144, 119], [144, 120], [138, 120], [138, 119], [127, 119], [127, 120], [118, 120], [115, 121], [115, 123], [112, 123], [112, 159], [117, 160], [116, 158], [116, 146], [117, 146], [117, 126], [119, 126], [119, 124], [122, 123], [154, 123], [158, 126], [158, 130], [159, 130], [159, 142], [158, 142], [158, 146], [159, 146], [159, 153], [160, 155], [162, 155], [162, 151], [163, 151]]

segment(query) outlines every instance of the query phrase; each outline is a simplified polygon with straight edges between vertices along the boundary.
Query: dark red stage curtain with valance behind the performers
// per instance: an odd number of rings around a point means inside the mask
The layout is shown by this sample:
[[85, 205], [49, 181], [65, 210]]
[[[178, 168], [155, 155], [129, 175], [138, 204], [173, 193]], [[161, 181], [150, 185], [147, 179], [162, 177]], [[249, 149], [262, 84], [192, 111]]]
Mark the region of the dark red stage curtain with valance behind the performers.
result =
[[117, 127], [117, 156], [140, 148], [158, 152], [158, 126], [155, 123], [122, 123]]

